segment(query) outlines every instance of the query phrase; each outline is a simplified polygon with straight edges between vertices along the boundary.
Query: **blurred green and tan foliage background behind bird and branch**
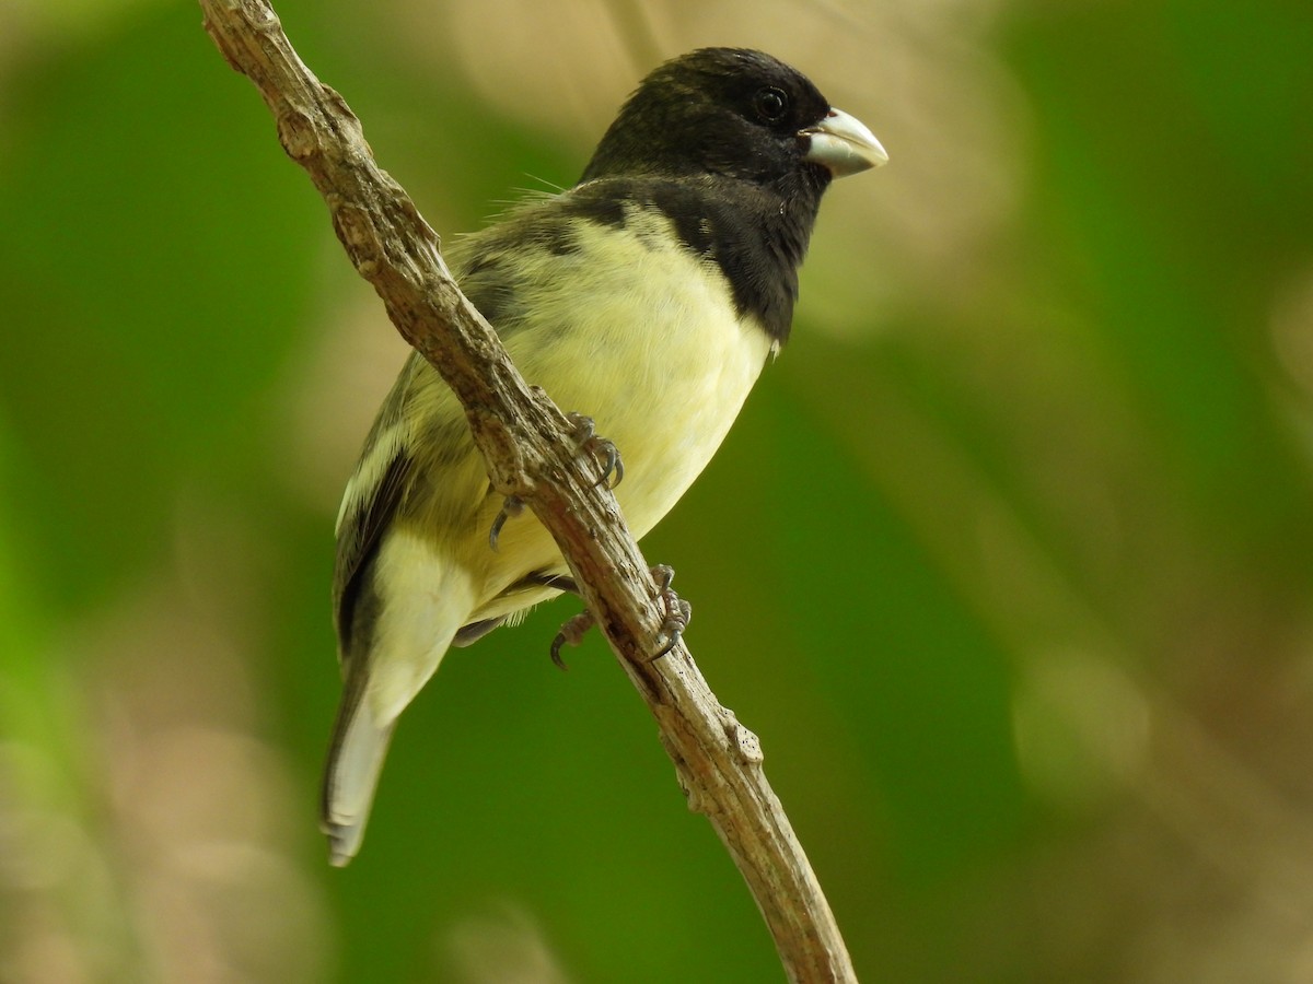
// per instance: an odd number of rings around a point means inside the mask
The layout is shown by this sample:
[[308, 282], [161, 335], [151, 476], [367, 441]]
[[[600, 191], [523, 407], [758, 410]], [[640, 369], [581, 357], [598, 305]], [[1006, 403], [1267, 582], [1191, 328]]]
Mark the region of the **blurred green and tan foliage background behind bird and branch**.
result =
[[[444, 235], [696, 46], [867, 122], [643, 544], [859, 974], [1313, 980], [1306, 0], [278, 10]], [[200, 20], [0, 5], [0, 980], [781, 980], [604, 644], [546, 659], [569, 601], [450, 656], [326, 865], [332, 522], [404, 349]]]

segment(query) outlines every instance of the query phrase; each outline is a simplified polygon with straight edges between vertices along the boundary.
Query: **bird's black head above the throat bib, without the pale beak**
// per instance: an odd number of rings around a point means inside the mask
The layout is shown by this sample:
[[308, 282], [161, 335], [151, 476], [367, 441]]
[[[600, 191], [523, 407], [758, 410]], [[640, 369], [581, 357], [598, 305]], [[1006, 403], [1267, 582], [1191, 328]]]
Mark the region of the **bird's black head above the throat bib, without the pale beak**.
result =
[[772, 185], [809, 172], [825, 188], [831, 172], [805, 160], [810, 138], [802, 131], [829, 114], [817, 87], [783, 62], [746, 49], [701, 49], [642, 81], [582, 180], [710, 173]]

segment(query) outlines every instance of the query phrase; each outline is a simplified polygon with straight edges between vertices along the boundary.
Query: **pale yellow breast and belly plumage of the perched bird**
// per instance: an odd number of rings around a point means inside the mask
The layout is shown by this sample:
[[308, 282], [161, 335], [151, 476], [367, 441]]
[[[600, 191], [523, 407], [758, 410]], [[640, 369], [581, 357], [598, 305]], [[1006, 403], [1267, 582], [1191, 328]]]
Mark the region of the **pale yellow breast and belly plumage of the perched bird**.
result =
[[[591, 416], [597, 434], [616, 443], [625, 464], [616, 497], [635, 537], [655, 526], [706, 467], [772, 352], [765, 332], [735, 312], [718, 268], [674, 245], [659, 228], [664, 218], [646, 220], [651, 227], [630, 216], [624, 237], [614, 230], [580, 236], [578, 262], [595, 261], [605, 249], [613, 264], [621, 251], [622, 283], [612, 279], [595, 297], [574, 295], [569, 308], [565, 297], [545, 300], [533, 316], [542, 327], [524, 328], [507, 342], [529, 383], [561, 409]], [[566, 310], [578, 312], [580, 300], [587, 300], [586, 316], [562, 329]], [[540, 344], [544, 336], [553, 341]], [[487, 551], [486, 530], [479, 535]], [[479, 618], [503, 614], [487, 602], [528, 572], [563, 569], [555, 544], [529, 513], [507, 523], [500, 544], [484, 558]]]

